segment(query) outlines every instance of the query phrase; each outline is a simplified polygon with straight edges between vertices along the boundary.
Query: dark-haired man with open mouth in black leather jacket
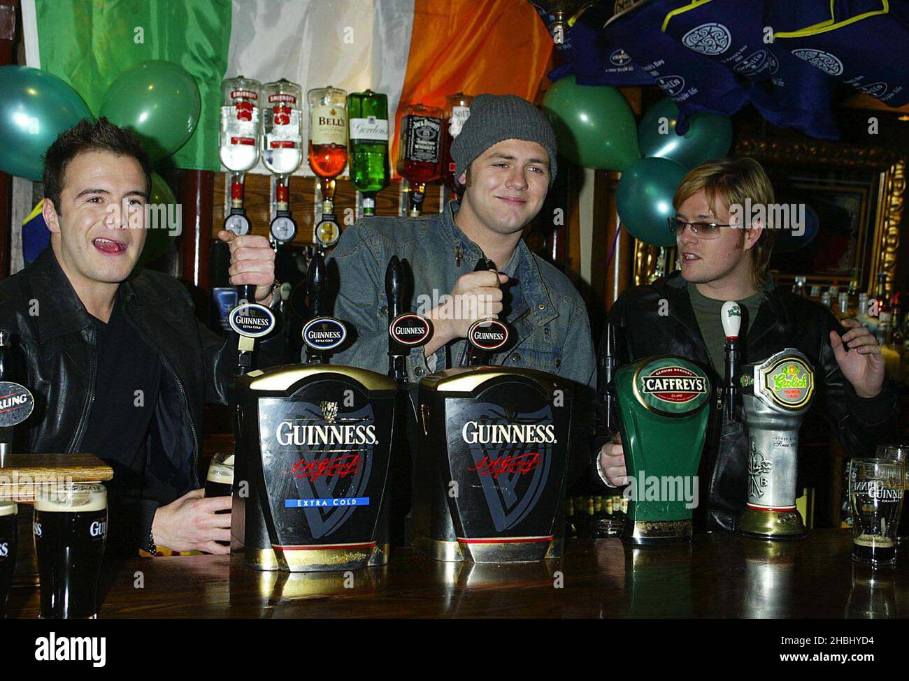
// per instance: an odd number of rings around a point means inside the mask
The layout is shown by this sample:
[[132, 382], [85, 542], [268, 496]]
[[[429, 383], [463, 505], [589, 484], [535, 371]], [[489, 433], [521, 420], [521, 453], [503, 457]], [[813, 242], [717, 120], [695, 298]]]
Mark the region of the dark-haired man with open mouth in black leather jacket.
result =
[[[145, 227], [161, 227], [145, 224], [148, 155], [129, 131], [86, 119], [48, 149], [44, 187], [50, 246], [0, 282], [0, 327], [13, 332], [18, 378], [35, 395], [18, 449], [87, 451], [111, 465], [109, 546], [227, 553], [216, 541], [229, 541], [230, 514], [215, 512], [230, 498], [204, 498], [196, 464], [203, 406], [226, 403], [235, 353], [196, 321], [178, 281], [135, 268]], [[256, 284], [269, 304], [267, 239], [218, 236], [230, 245], [230, 281]]]

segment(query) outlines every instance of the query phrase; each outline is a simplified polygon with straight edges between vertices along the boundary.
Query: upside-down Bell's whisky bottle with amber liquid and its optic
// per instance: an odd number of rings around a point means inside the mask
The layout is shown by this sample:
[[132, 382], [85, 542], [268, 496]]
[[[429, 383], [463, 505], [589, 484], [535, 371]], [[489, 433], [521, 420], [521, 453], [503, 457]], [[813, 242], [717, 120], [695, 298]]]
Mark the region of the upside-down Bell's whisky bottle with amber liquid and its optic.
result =
[[322, 219], [315, 225], [315, 241], [334, 246], [341, 236], [335, 218], [335, 178], [347, 165], [347, 93], [329, 85], [310, 90], [309, 167], [319, 178]]

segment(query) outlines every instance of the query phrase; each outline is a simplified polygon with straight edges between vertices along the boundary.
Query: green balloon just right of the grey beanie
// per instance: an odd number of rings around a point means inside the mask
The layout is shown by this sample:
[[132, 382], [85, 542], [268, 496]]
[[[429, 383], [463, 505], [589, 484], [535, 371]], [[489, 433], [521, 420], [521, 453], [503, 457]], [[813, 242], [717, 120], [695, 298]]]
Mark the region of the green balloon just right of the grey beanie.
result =
[[634, 114], [614, 87], [579, 85], [569, 75], [549, 88], [543, 109], [559, 154], [573, 163], [624, 173], [641, 157]]

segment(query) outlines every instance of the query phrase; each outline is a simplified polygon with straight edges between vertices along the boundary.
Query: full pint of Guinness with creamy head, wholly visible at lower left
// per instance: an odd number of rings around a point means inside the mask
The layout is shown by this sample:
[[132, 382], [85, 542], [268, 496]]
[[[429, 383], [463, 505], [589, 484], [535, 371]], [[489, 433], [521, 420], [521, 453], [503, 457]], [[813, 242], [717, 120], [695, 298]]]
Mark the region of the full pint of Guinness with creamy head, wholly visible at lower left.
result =
[[97, 587], [107, 538], [107, 490], [69, 483], [35, 492], [35, 555], [41, 617], [97, 616]]

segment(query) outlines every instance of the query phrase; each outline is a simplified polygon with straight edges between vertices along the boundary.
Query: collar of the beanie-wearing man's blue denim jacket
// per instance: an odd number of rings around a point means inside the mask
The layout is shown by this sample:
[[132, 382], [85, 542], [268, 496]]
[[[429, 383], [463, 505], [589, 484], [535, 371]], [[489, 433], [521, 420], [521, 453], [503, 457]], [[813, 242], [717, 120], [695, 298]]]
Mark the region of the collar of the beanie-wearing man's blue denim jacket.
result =
[[[460, 268], [464, 273], [472, 271], [476, 262], [483, 255], [480, 247], [470, 241], [461, 228], [454, 222], [454, 213], [458, 212], [461, 202], [453, 199], [445, 206], [442, 212], [442, 233], [451, 243], [452, 248], [460, 248], [464, 256]], [[538, 326], [544, 326], [559, 316], [550, 296], [549, 287], [546, 286], [543, 274], [537, 265], [534, 253], [527, 247], [524, 239], [517, 242], [518, 262], [514, 278], [521, 282], [521, 295], [524, 297], [531, 312], [528, 319], [533, 320]]]

